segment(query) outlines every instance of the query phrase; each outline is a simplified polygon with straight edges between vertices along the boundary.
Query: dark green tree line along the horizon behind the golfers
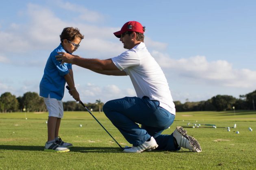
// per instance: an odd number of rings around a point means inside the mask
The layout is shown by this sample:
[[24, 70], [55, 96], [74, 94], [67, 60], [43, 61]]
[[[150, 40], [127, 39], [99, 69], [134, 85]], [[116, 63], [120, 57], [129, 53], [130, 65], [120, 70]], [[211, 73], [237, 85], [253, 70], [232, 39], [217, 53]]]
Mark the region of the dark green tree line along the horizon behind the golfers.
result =
[[[182, 104], [180, 101], [174, 101], [176, 111], [226, 111], [226, 110], [255, 110], [256, 102], [256, 90], [240, 95], [239, 98], [234, 98], [228, 95], [217, 95], [206, 101], [189, 102], [186, 101]], [[102, 111], [102, 103], [96, 100], [95, 103], [85, 103], [85, 106], [89, 110]], [[85, 108], [75, 102], [67, 101], [63, 102], [63, 109], [65, 111], [83, 111]], [[26, 92], [23, 96], [16, 98], [10, 92], [5, 92], [0, 96], [0, 112], [46, 112], [46, 105], [43, 98], [41, 98], [36, 92]]]

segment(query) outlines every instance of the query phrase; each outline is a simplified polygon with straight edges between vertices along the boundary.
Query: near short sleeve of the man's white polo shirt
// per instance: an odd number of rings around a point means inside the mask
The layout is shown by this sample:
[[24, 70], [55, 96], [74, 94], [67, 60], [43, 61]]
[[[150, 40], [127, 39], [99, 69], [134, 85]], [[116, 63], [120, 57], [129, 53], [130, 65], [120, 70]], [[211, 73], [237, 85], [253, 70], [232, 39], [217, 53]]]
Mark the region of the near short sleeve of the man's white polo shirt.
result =
[[111, 60], [120, 70], [140, 64], [139, 55], [135, 51], [126, 51], [117, 57], [111, 58]]

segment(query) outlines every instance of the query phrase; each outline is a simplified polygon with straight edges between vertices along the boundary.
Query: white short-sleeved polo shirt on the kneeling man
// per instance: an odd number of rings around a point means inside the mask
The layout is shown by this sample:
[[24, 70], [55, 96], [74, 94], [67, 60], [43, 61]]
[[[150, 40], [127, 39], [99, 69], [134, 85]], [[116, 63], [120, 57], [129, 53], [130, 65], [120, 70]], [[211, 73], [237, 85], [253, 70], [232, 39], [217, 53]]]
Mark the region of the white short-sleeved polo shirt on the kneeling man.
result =
[[157, 100], [161, 107], [175, 115], [175, 105], [165, 74], [148, 52], [145, 43], [113, 57], [112, 61], [130, 76], [137, 97], [148, 96], [150, 100]]

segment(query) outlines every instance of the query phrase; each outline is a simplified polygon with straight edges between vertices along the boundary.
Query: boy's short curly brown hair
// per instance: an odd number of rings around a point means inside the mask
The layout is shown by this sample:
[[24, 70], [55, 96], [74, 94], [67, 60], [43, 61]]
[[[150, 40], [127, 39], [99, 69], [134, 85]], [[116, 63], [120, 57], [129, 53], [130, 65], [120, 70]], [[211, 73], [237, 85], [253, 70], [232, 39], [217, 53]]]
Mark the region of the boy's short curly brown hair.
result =
[[73, 27], [64, 28], [60, 35], [61, 42], [63, 42], [63, 40], [65, 40], [65, 39], [72, 41], [76, 37], [78, 37], [82, 40], [84, 38], [84, 35], [82, 35], [79, 32], [78, 28], [73, 28]]

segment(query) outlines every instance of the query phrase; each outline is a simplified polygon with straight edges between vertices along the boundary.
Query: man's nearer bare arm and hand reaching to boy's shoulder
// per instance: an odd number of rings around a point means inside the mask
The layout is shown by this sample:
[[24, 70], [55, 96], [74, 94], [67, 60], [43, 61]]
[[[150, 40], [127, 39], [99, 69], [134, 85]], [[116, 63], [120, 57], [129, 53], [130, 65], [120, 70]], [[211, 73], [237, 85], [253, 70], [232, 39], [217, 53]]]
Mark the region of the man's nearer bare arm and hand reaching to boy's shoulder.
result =
[[58, 52], [59, 55], [56, 55], [57, 60], [62, 60], [62, 63], [72, 63], [77, 66], [87, 68], [93, 71], [113, 71], [119, 70], [117, 66], [113, 63], [111, 59], [99, 60], [99, 59], [87, 59], [81, 58], [79, 56], [74, 56], [68, 53]]

